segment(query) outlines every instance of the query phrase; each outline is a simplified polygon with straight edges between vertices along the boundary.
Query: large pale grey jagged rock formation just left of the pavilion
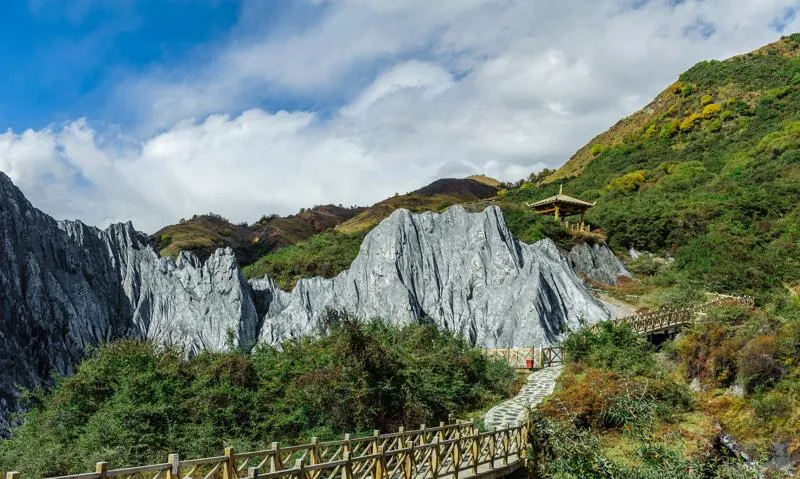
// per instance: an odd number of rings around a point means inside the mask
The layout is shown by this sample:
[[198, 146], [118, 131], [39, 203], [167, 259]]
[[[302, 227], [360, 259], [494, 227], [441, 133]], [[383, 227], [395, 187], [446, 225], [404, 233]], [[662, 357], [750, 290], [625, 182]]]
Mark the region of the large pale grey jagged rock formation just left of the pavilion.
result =
[[253, 289], [276, 298], [261, 329], [269, 343], [319, 332], [329, 308], [398, 324], [428, 318], [490, 347], [549, 344], [610, 316], [552, 241], [516, 241], [497, 207], [397, 210], [336, 278], [300, 280], [291, 294], [260, 281]]

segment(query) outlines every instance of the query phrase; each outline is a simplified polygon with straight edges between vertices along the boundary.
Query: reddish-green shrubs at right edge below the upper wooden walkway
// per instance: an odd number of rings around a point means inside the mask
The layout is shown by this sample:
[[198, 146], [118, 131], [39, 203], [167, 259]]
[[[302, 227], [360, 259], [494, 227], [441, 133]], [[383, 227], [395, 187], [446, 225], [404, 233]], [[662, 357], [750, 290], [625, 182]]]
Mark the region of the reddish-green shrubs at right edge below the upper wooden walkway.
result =
[[675, 351], [687, 381], [741, 385], [744, 397], [715, 395], [705, 406], [751, 455], [775, 443], [800, 451], [800, 301], [775, 298], [768, 310], [720, 306], [693, 325]]

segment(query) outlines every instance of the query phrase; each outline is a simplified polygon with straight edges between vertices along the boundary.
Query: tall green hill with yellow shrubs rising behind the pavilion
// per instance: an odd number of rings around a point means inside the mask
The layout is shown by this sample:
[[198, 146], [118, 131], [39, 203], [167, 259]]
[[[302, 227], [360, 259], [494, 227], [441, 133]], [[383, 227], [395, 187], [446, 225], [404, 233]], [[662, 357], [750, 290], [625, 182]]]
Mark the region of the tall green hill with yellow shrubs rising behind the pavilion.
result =
[[800, 34], [698, 63], [561, 169], [508, 199], [564, 191], [612, 247], [674, 254], [673, 281], [759, 293], [800, 278]]

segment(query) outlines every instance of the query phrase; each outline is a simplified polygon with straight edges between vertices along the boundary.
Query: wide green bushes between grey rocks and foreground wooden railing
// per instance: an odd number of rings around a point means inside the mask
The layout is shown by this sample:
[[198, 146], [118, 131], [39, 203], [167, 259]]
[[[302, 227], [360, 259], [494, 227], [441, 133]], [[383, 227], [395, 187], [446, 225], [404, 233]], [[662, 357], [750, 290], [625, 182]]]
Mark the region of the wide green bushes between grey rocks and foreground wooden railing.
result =
[[30, 408], [0, 464], [23, 477], [219, 455], [444, 420], [510, 395], [516, 374], [433, 325], [361, 324], [331, 313], [327, 334], [252, 355], [107, 344]]

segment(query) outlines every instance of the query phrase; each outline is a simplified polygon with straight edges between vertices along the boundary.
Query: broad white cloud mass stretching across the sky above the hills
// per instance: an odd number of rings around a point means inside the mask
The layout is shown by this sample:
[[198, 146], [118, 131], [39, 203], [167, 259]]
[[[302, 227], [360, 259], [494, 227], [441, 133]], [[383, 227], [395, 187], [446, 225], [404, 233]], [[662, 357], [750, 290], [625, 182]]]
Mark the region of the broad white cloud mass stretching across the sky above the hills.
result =
[[58, 217], [147, 231], [198, 212], [369, 204], [442, 175], [517, 179], [559, 166], [693, 63], [774, 41], [797, 2], [317, 3], [313, 21], [208, 46], [213, 61], [129, 77], [111, 101], [138, 137], [85, 120], [7, 132], [0, 169]]

